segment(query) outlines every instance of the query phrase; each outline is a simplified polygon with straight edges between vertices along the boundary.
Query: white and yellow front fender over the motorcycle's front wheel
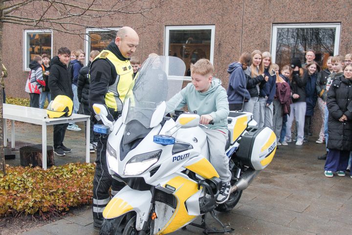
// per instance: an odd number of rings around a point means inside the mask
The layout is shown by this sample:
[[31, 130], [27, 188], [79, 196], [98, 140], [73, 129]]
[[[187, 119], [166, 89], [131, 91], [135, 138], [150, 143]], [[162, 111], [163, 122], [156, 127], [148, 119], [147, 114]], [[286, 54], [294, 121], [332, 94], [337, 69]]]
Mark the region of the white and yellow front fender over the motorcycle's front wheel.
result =
[[[138, 198], [135, 195], [138, 195]], [[148, 221], [151, 200], [151, 191], [139, 191], [125, 186], [110, 200], [103, 211], [103, 216], [106, 219], [112, 219], [129, 211], [135, 211], [136, 229], [139, 231], [143, 228], [144, 222]]]

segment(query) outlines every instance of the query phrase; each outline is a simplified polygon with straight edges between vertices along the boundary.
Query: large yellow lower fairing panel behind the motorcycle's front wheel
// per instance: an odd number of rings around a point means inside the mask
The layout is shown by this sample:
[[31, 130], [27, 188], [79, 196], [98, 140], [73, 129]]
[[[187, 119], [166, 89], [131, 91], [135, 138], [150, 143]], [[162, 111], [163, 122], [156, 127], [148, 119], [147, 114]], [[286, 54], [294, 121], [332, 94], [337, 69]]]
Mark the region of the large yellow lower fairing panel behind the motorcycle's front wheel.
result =
[[188, 213], [185, 202], [198, 191], [198, 184], [191, 179], [177, 175], [163, 185], [163, 187], [166, 185], [176, 188], [173, 194], [177, 200], [177, 207], [173, 216], [157, 235], [172, 233], [197, 218], [196, 215]]

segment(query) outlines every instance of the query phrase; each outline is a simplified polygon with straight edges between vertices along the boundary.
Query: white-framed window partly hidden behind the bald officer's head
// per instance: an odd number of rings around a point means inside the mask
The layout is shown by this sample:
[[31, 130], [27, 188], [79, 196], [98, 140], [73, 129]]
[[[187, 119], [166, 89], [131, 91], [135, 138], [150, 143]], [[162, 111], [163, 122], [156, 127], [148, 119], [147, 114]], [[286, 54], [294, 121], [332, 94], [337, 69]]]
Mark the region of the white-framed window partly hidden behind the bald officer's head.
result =
[[86, 64], [92, 50], [102, 51], [116, 38], [120, 28], [87, 28], [86, 29]]

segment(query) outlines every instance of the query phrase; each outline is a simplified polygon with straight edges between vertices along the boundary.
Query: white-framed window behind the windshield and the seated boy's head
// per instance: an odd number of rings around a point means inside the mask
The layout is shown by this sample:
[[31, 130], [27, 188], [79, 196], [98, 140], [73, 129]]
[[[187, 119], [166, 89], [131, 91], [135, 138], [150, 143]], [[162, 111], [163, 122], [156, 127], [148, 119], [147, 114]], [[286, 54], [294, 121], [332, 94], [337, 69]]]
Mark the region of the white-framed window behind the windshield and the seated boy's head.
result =
[[[213, 63], [214, 25], [166, 26], [165, 55], [176, 56], [186, 64], [186, 76], [191, 76], [190, 65], [205, 58]], [[188, 77], [186, 80], [190, 80]]]

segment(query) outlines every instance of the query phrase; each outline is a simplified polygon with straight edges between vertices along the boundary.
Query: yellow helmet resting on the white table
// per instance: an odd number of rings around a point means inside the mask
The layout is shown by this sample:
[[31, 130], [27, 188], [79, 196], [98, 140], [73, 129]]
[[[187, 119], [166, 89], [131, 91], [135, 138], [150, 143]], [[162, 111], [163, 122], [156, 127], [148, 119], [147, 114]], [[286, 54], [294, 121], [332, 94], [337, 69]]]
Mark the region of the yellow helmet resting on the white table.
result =
[[69, 117], [72, 114], [72, 109], [72, 100], [66, 95], [58, 95], [54, 100], [51, 100], [46, 109], [46, 114], [49, 118]]

